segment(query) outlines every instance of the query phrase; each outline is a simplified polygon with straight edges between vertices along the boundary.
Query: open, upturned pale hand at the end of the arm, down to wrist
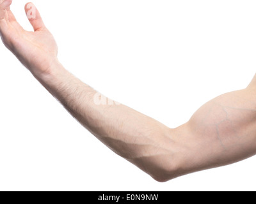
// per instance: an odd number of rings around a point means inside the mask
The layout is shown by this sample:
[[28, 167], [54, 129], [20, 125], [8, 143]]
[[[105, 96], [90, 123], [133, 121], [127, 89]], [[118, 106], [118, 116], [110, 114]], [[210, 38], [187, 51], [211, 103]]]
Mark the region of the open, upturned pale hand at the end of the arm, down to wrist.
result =
[[11, 4], [12, 0], [0, 0], [0, 35], [4, 45], [36, 77], [51, 73], [52, 64], [58, 62], [58, 47], [40, 13], [33, 4], [26, 4], [25, 11], [34, 32], [25, 31], [10, 10]]

